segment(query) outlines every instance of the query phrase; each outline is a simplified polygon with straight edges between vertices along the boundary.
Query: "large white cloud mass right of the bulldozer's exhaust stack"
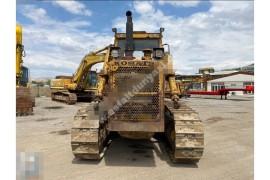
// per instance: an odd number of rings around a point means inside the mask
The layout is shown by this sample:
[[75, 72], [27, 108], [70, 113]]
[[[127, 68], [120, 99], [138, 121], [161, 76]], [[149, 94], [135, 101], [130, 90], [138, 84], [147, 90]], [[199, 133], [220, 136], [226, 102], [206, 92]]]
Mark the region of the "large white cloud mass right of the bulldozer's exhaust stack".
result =
[[[145, 2], [152, 13], [139, 11], [133, 26], [136, 31], [147, 32], [165, 28], [163, 43], [170, 44], [178, 73], [195, 73], [205, 66], [214, 66], [216, 70], [238, 67], [254, 62], [253, 3], [212, 1], [208, 12], [182, 18], [166, 16], [154, 3]], [[139, 2], [134, 3], [135, 10], [140, 6]], [[125, 31], [125, 21], [116, 18], [114, 27]]]

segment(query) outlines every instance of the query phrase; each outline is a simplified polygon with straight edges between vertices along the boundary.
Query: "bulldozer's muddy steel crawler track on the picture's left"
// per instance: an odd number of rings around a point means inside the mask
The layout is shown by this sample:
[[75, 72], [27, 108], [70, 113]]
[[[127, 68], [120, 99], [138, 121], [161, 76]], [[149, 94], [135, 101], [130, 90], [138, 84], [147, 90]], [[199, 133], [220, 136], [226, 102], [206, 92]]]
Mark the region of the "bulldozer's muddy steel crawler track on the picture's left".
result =
[[[71, 147], [75, 157], [101, 159], [108, 143], [107, 122], [100, 123], [97, 104], [82, 108], [74, 117], [71, 128]], [[97, 111], [95, 111], [95, 109]]]

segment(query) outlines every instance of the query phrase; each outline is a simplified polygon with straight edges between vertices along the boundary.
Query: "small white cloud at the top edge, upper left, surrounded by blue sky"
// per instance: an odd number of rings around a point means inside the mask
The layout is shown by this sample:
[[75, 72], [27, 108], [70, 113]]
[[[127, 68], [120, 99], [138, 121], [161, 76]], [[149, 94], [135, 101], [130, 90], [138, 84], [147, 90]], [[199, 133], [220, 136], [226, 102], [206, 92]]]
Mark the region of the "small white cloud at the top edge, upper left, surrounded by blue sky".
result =
[[72, 14], [85, 16], [92, 15], [92, 12], [90, 10], [87, 10], [83, 3], [77, 1], [53, 1], [52, 4], [55, 6], [62, 7]]

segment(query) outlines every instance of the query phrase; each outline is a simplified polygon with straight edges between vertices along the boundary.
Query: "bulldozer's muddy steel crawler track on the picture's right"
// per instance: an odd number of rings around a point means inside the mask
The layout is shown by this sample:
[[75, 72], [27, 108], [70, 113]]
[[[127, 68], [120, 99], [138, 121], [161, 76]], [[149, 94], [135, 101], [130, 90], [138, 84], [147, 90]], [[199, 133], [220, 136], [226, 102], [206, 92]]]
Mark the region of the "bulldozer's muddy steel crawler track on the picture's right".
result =
[[188, 105], [175, 109], [165, 104], [166, 130], [169, 155], [173, 162], [198, 162], [204, 150], [204, 133], [199, 114]]

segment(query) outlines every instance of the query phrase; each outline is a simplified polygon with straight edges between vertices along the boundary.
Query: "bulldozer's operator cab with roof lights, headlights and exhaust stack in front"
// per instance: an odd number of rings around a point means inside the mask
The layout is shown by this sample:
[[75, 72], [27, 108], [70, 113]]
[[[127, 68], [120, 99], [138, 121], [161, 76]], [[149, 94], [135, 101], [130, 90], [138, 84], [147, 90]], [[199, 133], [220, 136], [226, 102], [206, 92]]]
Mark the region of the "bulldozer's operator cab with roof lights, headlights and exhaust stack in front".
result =
[[116, 28], [112, 29], [115, 39], [114, 47], [111, 48], [111, 56], [117, 60], [160, 60], [164, 55], [162, 46], [164, 28], [160, 28], [159, 33], [133, 31], [132, 14], [128, 11], [126, 15], [126, 33], [117, 33]]

